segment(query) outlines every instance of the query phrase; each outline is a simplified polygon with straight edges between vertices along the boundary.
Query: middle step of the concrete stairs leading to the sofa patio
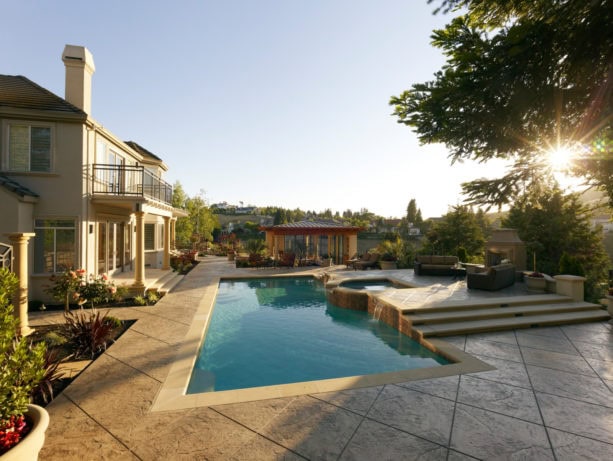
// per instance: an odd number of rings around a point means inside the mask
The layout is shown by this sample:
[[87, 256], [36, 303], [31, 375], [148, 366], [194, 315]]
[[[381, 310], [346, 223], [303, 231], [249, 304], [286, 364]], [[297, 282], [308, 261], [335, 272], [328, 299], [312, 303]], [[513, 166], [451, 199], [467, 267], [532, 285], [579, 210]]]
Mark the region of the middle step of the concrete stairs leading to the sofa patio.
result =
[[520, 317], [539, 314], [554, 314], [561, 312], [574, 312], [580, 310], [598, 309], [596, 304], [581, 302], [535, 304], [535, 305], [516, 305], [509, 307], [478, 308], [473, 310], [460, 311], [437, 311], [419, 312], [416, 314], [405, 315], [413, 325], [423, 325], [432, 323], [458, 322], [468, 320], [479, 320], [497, 317]]

